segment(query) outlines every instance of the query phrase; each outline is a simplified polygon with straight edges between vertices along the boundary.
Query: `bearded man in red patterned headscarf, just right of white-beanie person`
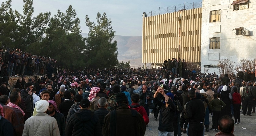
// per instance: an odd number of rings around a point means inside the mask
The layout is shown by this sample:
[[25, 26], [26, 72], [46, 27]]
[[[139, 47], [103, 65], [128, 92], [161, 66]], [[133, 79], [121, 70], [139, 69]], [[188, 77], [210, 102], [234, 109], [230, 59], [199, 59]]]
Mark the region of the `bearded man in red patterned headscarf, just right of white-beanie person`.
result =
[[49, 102], [49, 107], [48, 107], [48, 112], [51, 117], [54, 117], [57, 121], [58, 127], [59, 127], [59, 133], [61, 136], [65, 136], [65, 117], [63, 114], [61, 114], [56, 106], [55, 101], [53, 100], [48, 100]]

